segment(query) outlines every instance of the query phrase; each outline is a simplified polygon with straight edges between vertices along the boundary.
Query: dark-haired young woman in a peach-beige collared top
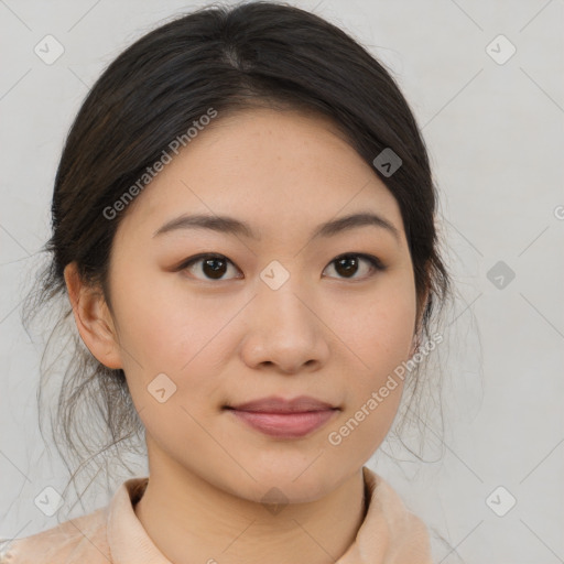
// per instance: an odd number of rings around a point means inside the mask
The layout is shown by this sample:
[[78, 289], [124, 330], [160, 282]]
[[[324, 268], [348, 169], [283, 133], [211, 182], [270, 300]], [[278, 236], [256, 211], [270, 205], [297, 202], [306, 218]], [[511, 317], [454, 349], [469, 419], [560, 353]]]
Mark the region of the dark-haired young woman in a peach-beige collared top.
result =
[[365, 463], [441, 340], [435, 207], [405, 99], [323, 19], [202, 9], [124, 51], [68, 134], [43, 293], [88, 349], [59, 415], [97, 389], [150, 473], [2, 562], [432, 562]]

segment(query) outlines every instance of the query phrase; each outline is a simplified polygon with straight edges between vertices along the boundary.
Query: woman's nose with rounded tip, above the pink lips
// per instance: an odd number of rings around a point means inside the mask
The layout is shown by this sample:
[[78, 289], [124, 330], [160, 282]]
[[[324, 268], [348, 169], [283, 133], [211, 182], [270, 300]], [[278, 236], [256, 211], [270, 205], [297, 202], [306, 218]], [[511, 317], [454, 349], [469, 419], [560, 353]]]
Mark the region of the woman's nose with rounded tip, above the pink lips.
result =
[[291, 276], [278, 290], [265, 284], [259, 288], [247, 307], [247, 334], [241, 347], [247, 366], [295, 375], [318, 370], [327, 362], [330, 330], [312, 292], [296, 286]]

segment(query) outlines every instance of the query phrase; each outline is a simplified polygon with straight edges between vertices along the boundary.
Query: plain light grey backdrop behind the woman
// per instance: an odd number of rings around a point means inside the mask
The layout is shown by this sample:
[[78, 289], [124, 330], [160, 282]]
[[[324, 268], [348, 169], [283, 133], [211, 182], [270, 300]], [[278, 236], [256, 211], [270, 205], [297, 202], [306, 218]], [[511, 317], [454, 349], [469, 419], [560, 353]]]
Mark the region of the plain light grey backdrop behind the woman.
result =
[[[41, 346], [19, 317], [48, 237], [65, 134], [111, 59], [159, 22], [206, 3], [0, 0], [0, 536], [56, 525], [33, 499], [65, 484], [57, 460], [43, 457]], [[563, 2], [290, 3], [343, 26], [394, 73], [429, 145], [462, 296], [453, 345], [465, 346], [452, 351], [434, 451], [443, 457], [419, 463], [394, 448], [405, 462], [377, 457], [371, 466], [468, 564], [564, 562]], [[52, 65], [34, 53], [47, 34], [65, 50]], [[507, 56], [503, 40], [487, 48], [499, 34], [517, 48], [503, 64], [490, 56]], [[501, 289], [488, 278], [498, 261], [516, 273]], [[487, 503], [499, 486], [497, 508], [517, 499], [505, 517]], [[107, 501], [94, 489], [91, 509]], [[436, 562], [454, 555], [434, 551]]]

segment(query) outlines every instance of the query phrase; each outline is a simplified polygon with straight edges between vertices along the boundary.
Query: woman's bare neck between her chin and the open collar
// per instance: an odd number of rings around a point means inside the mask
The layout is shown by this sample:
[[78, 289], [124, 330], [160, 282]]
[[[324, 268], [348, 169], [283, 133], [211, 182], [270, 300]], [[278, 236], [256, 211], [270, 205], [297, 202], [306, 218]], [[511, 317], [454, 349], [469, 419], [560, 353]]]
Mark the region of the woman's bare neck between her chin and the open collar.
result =
[[150, 473], [134, 511], [175, 564], [334, 564], [366, 517], [361, 469], [325, 497], [280, 511], [218, 489], [185, 468], [159, 470]]

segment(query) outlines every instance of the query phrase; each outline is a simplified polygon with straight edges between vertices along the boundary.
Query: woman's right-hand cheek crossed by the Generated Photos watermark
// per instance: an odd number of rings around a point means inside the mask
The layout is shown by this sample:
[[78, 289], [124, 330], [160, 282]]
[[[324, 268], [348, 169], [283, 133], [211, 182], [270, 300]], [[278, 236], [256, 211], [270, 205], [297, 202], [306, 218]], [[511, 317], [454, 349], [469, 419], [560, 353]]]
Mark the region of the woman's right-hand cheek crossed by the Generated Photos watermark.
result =
[[339, 337], [358, 369], [349, 368], [346, 411], [332, 427], [337, 436], [333, 442], [329, 437], [329, 444], [338, 443], [350, 455], [370, 456], [401, 401], [403, 362], [409, 359], [416, 314], [412, 279], [390, 278], [370, 300], [347, 305], [350, 314], [341, 316]]

